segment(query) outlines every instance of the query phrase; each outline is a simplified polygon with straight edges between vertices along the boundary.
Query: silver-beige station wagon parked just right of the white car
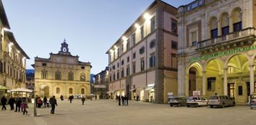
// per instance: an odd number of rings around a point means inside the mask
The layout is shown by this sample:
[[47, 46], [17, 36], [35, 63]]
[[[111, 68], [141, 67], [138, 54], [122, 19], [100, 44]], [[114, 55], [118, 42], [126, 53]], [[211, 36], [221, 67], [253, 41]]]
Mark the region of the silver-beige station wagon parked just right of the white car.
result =
[[213, 108], [213, 106], [220, 106], [224, 108], [226, 106], [235, 106], [236, 102], [229, 96], [210, 96], [208, 105], [210, 108]]

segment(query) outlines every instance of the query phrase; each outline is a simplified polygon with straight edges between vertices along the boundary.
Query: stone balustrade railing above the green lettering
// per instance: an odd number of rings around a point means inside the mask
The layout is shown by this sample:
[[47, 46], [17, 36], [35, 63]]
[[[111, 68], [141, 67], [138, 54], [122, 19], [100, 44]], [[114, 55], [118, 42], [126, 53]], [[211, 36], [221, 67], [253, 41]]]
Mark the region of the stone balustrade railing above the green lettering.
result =
[[231, 32], [230, 34], [226, 34], [224, 36], [200, 41], [197, 44], [197, 50], [200, 50], [205, 47], [210, 47], [213, 45], [231, 42], [234, 40], [241, 40], [242, 38], [249, 37], [249, 36], [253, 36], [253, 37], [256, 36], [255, 28], [249, 27], [247, 29], [242, 29], [239, 32]]

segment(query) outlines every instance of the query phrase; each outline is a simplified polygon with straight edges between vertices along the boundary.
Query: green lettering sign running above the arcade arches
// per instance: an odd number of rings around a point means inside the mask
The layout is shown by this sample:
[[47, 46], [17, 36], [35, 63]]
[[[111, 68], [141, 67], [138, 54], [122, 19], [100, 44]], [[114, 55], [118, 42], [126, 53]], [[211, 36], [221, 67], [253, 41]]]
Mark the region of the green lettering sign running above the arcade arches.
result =
[[256, 46], [235, 48], [235, 49], [231, 49], [231, 50], [224, 51], [224, 52], [215, 52], [213, 54], [202, 55], [200, 57], [192, 57], [192, 58], [190, 58], [190, 61], [191, 62], [196, 62], [196, 61], [199, 61], [199, 60], [207, 60], [207, 59], [212, 58], [212, 57], [221, 57], [221, 56], [224, 56], [224, 55], [230, 55], [230, 54], [234, 54], [236, 52], [245, 52], [245, 51], [249, 51], [249, 50], [256, 50]]

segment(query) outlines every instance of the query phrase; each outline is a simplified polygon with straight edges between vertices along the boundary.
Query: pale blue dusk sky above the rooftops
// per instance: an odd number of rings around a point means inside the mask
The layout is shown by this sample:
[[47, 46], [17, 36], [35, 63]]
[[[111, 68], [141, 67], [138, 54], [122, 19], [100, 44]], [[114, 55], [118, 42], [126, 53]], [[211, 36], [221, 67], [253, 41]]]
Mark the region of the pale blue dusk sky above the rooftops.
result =
[[[99, 73], [108, 65], [106, 51], [121, 37], [153, 0], [2, 0], [11, 31], [29, 55], [49, 57], [64, 38], [69, 52], [93, 65]], [[164, 0], [175, 7], [194, 0]]]

